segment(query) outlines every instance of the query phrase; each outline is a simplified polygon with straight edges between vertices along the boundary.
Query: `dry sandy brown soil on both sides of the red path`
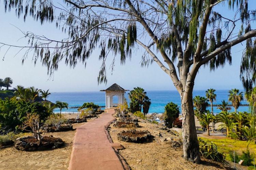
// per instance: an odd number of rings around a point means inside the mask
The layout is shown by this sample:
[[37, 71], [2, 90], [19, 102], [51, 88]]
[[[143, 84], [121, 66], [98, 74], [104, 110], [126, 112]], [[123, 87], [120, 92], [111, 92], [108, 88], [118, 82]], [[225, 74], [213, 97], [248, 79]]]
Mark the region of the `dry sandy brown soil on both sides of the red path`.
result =
[[[71, 117], [76, 115], [70, 115]], [[93, 121], [93, 120], [88, 120]], [[77, 128], [84, 123], [74, 123], [73, 128]], [[138, 131], [148, 130], [151, 135], [155, 136], [153, 141], [145, 143], [130, 143], [117, 140], [117, 134], [127, 128], [114, 127], [110, 125], [108, 131], [110, 132], [113, 142], [120, 143], [125, 149], [118, 150], [117, 152], [122, 156], [132, 170], [190, 170], [190, 169], [233, 169], [233, 163], [225, 162], [224, 164], [212, 162], [210, 160], [202, 159], [201, 164], [193, 164], [185, 161], [182, 157], [182, 147], [173, 148], [170, 141], [163, 141], [163, 138], [172, 138], [173, 140], [181, 139], [181, 129], [174, 129], [173, 135], [164, 130], [160, 130], [161, 124], [152, 124], [148, 121], [139, 119]], [[25, 169], [58, 169], [66, 170], [69, 166], [70, 155], [72, 151], [72, 142], [75, 131], [54, 132], [46, 133], [45, 135], [59, 137], [65, 141], [65, 146], [47, 150], [47, 151], [18, 151], [14, 146], [0, 149], [0, 170], [25, 170]], [[206, 136], [206, 134], [200, 134]], [[160, 137], [162, 136], [162, 137]], [[204, 136], [204, 137], [205, 137]], [[211, 136], [216, 137], [216, 136]], [[1, 146], [0, 146], [1, 148]], [[239, 164], [236, 165], [237, 169], [246, 169]]]

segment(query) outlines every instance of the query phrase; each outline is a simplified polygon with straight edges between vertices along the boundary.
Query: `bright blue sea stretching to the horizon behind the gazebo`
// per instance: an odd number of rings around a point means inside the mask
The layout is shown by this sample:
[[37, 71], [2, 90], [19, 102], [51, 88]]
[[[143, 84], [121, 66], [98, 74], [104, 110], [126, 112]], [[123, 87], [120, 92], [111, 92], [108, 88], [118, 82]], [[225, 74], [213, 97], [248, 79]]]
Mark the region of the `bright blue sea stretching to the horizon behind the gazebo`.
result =
[[[241, 91], [241, 90], [240, 90]], [[176, 90], [161, 90], [161, 91], [146, 91], [148, 98], [151, 99], [151, 106], [148, 114], [152, 113], [164, 113], [165, 105], [168, 102], [173, 102], [180, 107], [181, 110], [181, 98], [179, 93]], [[228, 101], [228, 90], [216, 90], [215, 94], [217, 95], [216, 101], [213, 104], [221, 104], [222, 100]], [[194, 90], [193, 97], [202, 96], [205, 97], [205, 90]], [[128, 92], [125, 94], [125, 98], [128, 101]], [[95, 92], [51, 92], [51, 95], [47, 97], [47, 100], [55, 103], [56, 101], [62, 101], [69, 104], [69, 107], [82, 106], [87, 102], [94, 102], [99, 106], [105, 106], [105, 92], [95, 91]], [[113, 97], [113, 103], [118, 103], [118, 98]], [[242, 104], [248, 104], [245, 100], [241, 102]], [[210, 103], [209, 103], [210, 104]], [[231, 102], [229, 102], [231, 104]], [[234, 111], [234, 108], [231, 106], [231, 112]], [[102, 107], [104, 109], [104, 107]], [[207, 109], [211, 110], [209, 106]], [[214, 114], [220, 112], [217, 107], [213, 107]], [[238, 111], [248, 112], [248, 106], [240, 106]], [[59, 109], [54, 110], [55, 113], [59, 113]], [[62, 109], [62, 113], [76, 113], [77, 108]]]

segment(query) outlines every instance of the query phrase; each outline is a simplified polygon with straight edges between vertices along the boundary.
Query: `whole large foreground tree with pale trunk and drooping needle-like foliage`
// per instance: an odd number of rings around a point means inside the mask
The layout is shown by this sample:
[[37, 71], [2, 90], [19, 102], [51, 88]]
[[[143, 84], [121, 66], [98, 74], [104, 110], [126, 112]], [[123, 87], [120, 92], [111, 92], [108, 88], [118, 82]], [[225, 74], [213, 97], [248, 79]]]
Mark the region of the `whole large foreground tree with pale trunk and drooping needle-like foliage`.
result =
[[[250, 5], [253, 0], [65, 0], [65, 5], [52, 0], [22, 2], [4, 1], [5, 11], [16, 11], [20, 17], [24, 10], [24, 21], [31, 16], [41, 24], [53, 22], [68, 34], [62, 40], [25, 34], [30, 44], [20, 48], [34, 49], [35, 62], [41, 58], [49, 74], [58, 69], [62, 59], [71, 67], [80, 61], [86, 65], [93, 50], [99, 48], [102, 65], [98, 83], [106, 83], [108, 55], [113, 54], [113, 70], [116, 55], [125, 64], [135, 49], [144, 49], [142, 66], [156, 62], [181, 96], [183, 152], [191, 162], [200, 162], [192, 95], [199, 69], [208, 65], [214, 71], [230, 65], [231, 47], [246, 41], [240, 77], [248, 88], [255, 84], [256, 30], [251, 28], [251, 22], [256, 11], [249, 9], [254, 6]], [[233, 10], [234, 17], [223, 17], [217, 8], [220, 5], [228, 5], [221, 12]], [[55, 16], [55, 12], [60, 15]], [[236, 36], [237, 27], [241, 30]]]

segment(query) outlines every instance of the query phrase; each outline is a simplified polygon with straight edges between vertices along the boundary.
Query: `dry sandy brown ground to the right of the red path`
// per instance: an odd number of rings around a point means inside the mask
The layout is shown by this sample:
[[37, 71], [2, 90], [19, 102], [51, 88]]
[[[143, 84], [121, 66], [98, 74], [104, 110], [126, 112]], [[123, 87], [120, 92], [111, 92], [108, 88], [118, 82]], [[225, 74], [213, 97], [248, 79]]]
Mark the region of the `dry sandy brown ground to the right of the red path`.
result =
[[[173, 128], [170, 132], [167, 132], [161, 130], [162, 124], [152, 124], [142, 119], [139, 119], [139, 124], [137, 130], [150, 131], [151, 135], [154, 136], [152, 141], [144, 143], [120, 141], [117, 134], [128, 129], [117, 128], [113, 124], [108, 129], [113, 142], [124, 146], [124, 149], [119, 149], [117, 152], [125, 159], [132, 170], [233, 169], [232, 163], [221, 164], [203, 158], [201, 158], [201, 164], [185, 161], [183, 159], [183, 146], [173, 147], [173, 141], [179, 142], [181, 140], [182, 129]], [[211, 136], [211, 138], [214, 137]], [[246, 167], [239, 165], [236, 165], [236, 168], [246, 169]]]

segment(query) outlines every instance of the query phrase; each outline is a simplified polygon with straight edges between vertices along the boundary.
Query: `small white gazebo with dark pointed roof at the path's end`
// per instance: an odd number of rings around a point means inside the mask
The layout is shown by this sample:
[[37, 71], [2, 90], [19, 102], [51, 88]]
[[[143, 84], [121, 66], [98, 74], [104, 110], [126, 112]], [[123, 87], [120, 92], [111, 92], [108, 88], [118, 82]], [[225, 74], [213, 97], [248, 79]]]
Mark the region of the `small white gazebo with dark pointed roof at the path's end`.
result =
[[[124, 88], [120, 87], [118, 84], [113, 84], [109, 88], [105, 90], [100, 90], [106, 92], [106, 108], [117, 106], [118, 104], [123, 104], [125, 100], [125, 90]], [[118, 103], [113, 103], [113, 96], [118, 97]]]

